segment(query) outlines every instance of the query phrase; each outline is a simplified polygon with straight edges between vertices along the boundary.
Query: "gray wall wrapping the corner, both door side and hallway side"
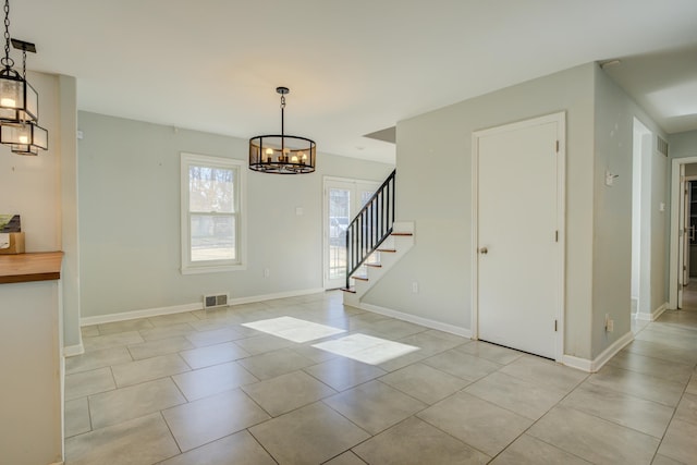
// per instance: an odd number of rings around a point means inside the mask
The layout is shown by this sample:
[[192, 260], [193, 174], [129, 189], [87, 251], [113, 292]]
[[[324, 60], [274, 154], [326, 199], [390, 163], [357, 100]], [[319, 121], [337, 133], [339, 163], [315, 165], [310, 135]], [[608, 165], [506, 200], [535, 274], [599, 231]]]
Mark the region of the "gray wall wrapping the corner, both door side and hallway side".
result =
[[[594, 359], [629, 331], [632, 136], [638, 117], [660, 130], [595, 63], [540, 77], [398, 124], [398, 219], [416, 245], [368, 304], [469, 329], [472, 133], [566, 112], [564, 353]], [[665, 160], [653, 157], [651, 304], [665, 302]], [[620, 174], [604, 185], [606, 170]], [[504, 213], [502, 213], [504, 215]], [[419, 292], [411, 292], [412, 282]], [[604, 331], [604, 315], [615, 319]]]

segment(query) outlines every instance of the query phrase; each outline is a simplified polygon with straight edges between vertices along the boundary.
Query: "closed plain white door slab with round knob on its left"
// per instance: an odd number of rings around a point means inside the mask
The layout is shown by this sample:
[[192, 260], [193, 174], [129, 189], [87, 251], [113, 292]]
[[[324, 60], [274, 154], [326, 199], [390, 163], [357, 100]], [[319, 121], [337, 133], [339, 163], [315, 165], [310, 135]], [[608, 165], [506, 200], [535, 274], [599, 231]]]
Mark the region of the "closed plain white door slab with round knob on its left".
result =
[[557, 358], [564, 123], [552, 117], [475, 134], [475, 305], [479, 339]]

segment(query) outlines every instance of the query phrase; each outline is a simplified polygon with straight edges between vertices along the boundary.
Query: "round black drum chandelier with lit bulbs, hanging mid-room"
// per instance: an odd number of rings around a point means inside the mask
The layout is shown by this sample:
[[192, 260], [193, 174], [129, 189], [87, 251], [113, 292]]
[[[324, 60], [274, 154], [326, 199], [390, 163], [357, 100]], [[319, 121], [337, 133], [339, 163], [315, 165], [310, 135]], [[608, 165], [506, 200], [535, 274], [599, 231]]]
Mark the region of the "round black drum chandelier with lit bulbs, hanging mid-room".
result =
[[262, 173], [305, 174], [315, 171], [317, 145], [306, 137], [285, 135], [284, 111], [288, 87], [277, 87], [281, 95], [281, 134], [249, 139], [249, 169]]

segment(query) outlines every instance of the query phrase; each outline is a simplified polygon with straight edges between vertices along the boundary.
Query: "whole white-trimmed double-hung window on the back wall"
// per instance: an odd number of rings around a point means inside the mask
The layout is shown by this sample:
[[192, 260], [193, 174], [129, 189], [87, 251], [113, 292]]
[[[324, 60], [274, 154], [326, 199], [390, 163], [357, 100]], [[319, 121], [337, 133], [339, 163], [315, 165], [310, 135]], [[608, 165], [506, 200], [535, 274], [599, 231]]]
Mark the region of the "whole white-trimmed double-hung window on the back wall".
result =
[[244, 163], [182, 154], [182, 273], [244, 269]]

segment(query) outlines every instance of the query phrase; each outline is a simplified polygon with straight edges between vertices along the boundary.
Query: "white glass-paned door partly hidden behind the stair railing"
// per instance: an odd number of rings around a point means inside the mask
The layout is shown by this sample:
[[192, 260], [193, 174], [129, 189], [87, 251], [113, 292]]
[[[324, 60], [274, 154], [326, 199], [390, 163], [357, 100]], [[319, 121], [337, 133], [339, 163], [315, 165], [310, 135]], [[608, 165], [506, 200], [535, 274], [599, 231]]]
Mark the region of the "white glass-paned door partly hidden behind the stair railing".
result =
[[325, 179], [325, 289], [346, 285], [346, 229], [379, 183]]

